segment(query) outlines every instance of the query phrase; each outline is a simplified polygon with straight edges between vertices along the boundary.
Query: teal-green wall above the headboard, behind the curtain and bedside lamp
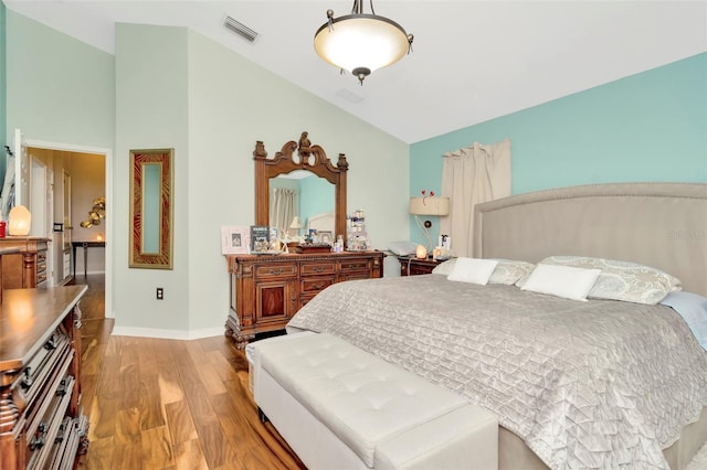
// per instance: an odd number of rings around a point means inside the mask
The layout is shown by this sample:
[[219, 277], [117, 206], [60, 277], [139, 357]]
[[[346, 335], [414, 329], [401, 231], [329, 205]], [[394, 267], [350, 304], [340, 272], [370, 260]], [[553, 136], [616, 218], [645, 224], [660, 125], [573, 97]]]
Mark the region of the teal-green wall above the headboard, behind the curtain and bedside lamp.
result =
[[[707, 182], [707, 53], [416, 142], [410, 194], [441, 189], [444, 152], [506, 137], [514, 194], [588, 183]], [[421, 237], [414, 222], [410, 226]]]

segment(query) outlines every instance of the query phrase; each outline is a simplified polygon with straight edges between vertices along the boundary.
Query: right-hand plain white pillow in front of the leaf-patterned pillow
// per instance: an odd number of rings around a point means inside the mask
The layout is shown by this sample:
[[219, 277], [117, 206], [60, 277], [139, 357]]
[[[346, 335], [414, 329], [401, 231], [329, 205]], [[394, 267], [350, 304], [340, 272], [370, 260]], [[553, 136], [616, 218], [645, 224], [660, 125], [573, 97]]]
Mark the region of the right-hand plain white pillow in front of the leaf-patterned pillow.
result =
[[601, 269], [539, 264], [520, 289], [585, 302], [600, 274]]

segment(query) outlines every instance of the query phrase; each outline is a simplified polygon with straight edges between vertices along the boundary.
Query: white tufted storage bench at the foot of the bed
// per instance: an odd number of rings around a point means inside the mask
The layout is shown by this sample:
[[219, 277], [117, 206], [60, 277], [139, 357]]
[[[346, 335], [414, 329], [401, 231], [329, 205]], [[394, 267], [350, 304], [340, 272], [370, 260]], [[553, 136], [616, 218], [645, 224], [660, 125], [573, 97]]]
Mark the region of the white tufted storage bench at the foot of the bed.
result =
[[249, 344], [253, 395], [316, 469], [496, 469], [492, 413], [336, 337]]

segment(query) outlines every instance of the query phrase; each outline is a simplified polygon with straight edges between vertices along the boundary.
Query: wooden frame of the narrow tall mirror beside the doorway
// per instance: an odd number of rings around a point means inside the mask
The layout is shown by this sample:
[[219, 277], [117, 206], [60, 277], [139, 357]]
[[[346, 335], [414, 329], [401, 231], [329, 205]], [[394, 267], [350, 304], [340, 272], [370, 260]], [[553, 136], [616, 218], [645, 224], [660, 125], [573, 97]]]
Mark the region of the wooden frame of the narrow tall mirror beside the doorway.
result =
[[[172, 269], [173, 153], [175, 149], [130, 150], [130, 268]], [[158, 253], [141, 250], [144, 168], [147, 164], [160, 165]]]

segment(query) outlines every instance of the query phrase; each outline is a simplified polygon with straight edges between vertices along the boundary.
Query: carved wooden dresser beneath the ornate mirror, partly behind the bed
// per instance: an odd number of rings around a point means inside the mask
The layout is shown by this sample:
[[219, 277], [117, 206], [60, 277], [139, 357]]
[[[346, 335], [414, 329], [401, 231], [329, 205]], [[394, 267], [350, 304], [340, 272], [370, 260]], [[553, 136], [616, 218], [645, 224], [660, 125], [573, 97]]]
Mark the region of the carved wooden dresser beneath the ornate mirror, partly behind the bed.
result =
[[256, 333], [282, 330], [333, 284], [382, 277], [384, 256], [382, 252], [226, 255], [231, 296], [225, 335], [243, 349]]

